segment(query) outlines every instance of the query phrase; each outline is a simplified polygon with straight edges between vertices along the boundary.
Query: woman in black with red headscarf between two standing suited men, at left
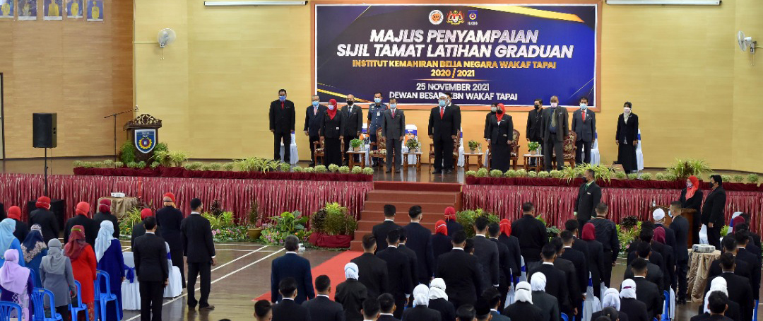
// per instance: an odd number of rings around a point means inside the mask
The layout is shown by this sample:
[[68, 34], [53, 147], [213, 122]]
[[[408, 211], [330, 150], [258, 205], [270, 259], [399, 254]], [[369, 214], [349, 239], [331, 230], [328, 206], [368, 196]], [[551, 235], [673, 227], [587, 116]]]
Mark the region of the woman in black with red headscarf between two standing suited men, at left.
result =
[[[172, 265], [180, 269], [180, 280], [183, 287], [185, 287], [183, 241], [182, 232], [180, 232], [183, 212], [175, 207], [175, 196], [166, 195], [162, 198], [162, 201], [164, 207], [156, 211], [156, 225], [159, 226], [159, 230], [162, 232], [162, 238], [169, 244], [169, 256], [172, 258]], [[98, 219], [95, 222], [99, 224]]]

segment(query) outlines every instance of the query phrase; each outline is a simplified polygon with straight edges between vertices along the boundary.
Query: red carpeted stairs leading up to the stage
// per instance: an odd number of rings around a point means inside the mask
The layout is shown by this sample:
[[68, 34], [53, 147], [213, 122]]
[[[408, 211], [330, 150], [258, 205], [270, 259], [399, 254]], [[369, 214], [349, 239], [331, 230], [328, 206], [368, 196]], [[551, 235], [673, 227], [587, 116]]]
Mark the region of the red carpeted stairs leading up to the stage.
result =
[[394, 222], [406, 225], [410, 222], [410, 206], [421, 206], [421, 225], [434, 232], [434, 223], [443, 219], [448, 206], [461, 210], [461, 184], [457, 183], [407, 183], [374, 182], [374, 190], [368, 193], [363, 211], [360, 212], [358, 229], [350, 245], [351, 251], [362, 251], [363, 235], [371, 233], [374, 225], [384, 221], [384, 206], [392, 204], [397, 208]]

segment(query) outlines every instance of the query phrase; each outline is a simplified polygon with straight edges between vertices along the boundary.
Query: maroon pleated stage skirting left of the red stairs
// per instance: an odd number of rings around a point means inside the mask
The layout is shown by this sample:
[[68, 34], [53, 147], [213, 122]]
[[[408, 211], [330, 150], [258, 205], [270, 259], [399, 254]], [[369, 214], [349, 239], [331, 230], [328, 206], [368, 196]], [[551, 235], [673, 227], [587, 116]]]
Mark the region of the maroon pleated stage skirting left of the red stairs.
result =
[[[6, 210], [13, 205], [22, 206], [22, 219], [25, 220], [27, 210], [24, 204], [43, 195], [43, 186], [43, 176], [39, 174], [0, 174], [0, 203], [5, 204]], [[222, 208], [233, 211], [238, 222], [246, 222], [246, 214], [254, 199], [262, 217], [294, 210], [310, 215], [327, 202], [340, 203], [357, 217], [362, 210], [365, 193], [373, 190], [373, 183], [52, 175], [48, 177], [48, 189], [51, 198], [66, 200], [67, 219], [74, 216], [76, 203], [88, 202], [95, 211], [98, 198], [109, 196], [111, 192], [138, 197], [154, 208], [160, 206], [164, 193], [172, 192], [185, 213], [191, 212], [189, 203], [194, 197], [202, 199], [206, 209], [214, 199], [219, 199]]]

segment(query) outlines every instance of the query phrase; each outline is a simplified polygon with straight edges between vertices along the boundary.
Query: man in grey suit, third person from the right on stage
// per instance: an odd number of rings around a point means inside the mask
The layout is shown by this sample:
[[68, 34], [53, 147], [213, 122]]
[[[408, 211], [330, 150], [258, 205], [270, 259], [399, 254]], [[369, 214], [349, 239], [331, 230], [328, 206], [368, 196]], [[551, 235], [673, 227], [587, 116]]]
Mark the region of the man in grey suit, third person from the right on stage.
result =
[[543, 110], [542, 139], [543, 162], [546, 171], [551, 171], [551, 157], [556, 154], [556, 169], [564, 167], [565, 137], [569, 135], [568, 115], [564, 107], [559, 107], [559, 97], [551, 96], [551, 108]]

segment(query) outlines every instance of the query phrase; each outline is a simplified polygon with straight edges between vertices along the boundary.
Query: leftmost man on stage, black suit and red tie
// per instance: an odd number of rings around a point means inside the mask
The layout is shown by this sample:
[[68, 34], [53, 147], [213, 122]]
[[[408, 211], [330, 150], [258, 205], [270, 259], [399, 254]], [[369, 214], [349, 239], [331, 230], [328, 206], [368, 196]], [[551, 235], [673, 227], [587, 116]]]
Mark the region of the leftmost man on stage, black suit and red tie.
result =
[[291, 161], [291, 134], [294, 133], [294, 102], [286, 99], [286, 89], [278, 90], [278, 100], [270, 102], [270, 132], [273, 133], [273, 159], [281, 159], [281, 141], [284, 144], [283, 161]]

